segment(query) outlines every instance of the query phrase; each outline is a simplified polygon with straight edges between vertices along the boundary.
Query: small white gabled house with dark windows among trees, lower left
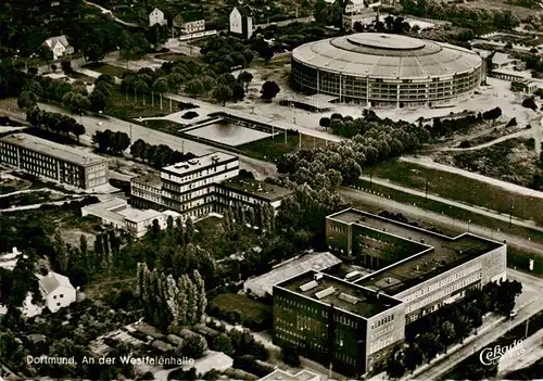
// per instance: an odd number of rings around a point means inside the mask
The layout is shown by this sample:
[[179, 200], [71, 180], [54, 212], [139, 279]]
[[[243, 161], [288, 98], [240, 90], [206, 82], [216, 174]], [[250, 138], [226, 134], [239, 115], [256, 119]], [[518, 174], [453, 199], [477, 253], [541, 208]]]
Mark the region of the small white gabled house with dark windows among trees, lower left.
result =
[[39, 280], [39, 290], [51, 313], [71, 305], [77, 299], [76, 289], [70, 279], [53, 271]]

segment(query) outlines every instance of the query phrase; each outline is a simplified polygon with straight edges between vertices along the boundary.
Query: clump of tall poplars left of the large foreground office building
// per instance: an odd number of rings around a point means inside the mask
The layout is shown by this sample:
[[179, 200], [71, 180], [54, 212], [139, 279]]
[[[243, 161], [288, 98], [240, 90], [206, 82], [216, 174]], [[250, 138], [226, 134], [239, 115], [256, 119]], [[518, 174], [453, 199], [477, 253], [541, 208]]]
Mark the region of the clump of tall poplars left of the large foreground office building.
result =
[[201, 322], [207, 305], [204, 281], [198, 270], [192, 277], [185, 274], [176, 280], [157, 269], [151, 271], [146, 263], [138, 264], [136, 295], [144, 308], [146, 320], [172, 332]]

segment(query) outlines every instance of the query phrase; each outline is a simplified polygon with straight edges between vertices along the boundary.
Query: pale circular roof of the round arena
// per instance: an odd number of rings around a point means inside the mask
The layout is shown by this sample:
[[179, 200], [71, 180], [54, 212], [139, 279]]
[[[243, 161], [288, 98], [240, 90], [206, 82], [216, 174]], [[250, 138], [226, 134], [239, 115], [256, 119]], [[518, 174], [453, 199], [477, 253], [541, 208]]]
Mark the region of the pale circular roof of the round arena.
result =
[[481, 65], [481, 58], [464, 48], [377, 33], [305, 43], [292, 59], [325, 72], [377, 78], [446, 77]]

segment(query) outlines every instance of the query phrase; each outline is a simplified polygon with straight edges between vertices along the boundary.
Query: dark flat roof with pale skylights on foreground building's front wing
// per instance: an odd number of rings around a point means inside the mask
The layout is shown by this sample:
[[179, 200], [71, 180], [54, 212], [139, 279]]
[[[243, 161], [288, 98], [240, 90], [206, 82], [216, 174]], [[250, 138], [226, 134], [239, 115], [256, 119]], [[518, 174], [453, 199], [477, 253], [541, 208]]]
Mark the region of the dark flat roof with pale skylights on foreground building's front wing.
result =
[[[320, 279], [316, 279], [317, 274], [321, 275]], [[287, 289], [315, 302], [333, 304], [337, 309], [363, 318], [370, 318], [402, 303], [394, 297], [317, 271], [306, 271], [276, 284], [276, 287]]]

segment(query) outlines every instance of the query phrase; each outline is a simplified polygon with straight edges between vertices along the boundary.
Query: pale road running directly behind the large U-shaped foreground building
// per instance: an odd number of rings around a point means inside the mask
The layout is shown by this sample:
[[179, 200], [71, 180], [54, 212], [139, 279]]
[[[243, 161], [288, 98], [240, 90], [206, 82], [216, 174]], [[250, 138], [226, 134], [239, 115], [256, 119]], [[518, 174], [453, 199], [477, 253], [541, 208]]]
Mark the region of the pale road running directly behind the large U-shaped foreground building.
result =
[[357, 204], [377, 206], [382, 208], [383, 211], [402, 213], [407, 218], [415, 219], [422, 225], [430, 223], [442, 228], [449, 228], [453, 230], [462, 229], [500, 242], [506, 241], [507, 244], [516, 246], [520, 250], [540, 253], [541, 255], [543, 255], [542, 244], [532, 242], [518, 236], [512, 236], [508, 233], [504, 233], [503, 231], [491, 230], [483, 226], [469, 224], [439, 213], [429, 212], [414, 205], [402, 204], [391, 199], [380, 198], [378, 195], [353, 190], [351, 188], [342, 188], [340, 190], [340, 193], [346, 202], [352, 203], [354, 206], [356, 206]]

